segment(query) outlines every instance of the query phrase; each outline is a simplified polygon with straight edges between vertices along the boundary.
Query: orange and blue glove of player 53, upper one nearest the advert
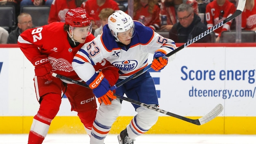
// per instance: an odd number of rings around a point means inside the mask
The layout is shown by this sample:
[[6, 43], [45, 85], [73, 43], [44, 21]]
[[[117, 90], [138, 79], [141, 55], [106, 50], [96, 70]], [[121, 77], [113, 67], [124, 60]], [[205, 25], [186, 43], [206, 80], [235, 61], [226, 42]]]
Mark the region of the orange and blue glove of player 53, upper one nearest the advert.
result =
[[154, 54], [154, 60], [152, 61], [151, 68], [155, 71], [162, 70], [165, 68], [168, 62], [168, 57], [166, 59], [163, 59], [163, 56], [165, 56], [164, 53], [160, 51], [156, 51]]

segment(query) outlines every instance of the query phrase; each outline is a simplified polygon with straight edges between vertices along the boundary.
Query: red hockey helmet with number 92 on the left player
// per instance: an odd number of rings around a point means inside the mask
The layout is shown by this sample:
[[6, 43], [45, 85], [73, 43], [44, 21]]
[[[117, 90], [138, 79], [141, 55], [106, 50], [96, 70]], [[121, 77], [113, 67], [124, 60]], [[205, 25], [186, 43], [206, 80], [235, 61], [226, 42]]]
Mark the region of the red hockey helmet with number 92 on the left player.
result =
[[65, 23], [73, 27], [85, 27], [90, 25], [91, 20], [84, 9], [77, 7], [67, 11]]

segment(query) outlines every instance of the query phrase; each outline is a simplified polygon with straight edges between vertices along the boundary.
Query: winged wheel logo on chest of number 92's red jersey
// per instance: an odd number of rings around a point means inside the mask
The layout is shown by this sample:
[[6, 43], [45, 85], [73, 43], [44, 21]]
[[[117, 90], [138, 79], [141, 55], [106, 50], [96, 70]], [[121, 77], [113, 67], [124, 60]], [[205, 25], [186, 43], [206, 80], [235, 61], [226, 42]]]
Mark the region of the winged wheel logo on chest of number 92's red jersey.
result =
[[67, 60], [60, 58], [56, 59], [54, 57], [48, 57], [50, 64], [52, 64], [52, 71], [60, 70], [64, 72], [72, 72], [72, 64], [70, 64]]

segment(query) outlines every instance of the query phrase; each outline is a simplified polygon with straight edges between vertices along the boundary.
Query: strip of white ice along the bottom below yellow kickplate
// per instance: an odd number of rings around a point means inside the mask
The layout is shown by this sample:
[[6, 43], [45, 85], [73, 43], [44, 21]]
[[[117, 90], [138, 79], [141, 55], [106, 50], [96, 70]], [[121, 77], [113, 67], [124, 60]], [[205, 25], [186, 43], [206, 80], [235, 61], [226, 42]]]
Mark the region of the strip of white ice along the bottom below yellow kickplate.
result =
[[[27, 144], [28, 134], [0, 134], [0, 144]], [[108, 135], [105, 144], [119, 144], [117, 135]], [[89, 144], [87, 134], [48, 134], [43, 144]], [[144, 134], [134, 144], [256, 144], [255, 135]]]

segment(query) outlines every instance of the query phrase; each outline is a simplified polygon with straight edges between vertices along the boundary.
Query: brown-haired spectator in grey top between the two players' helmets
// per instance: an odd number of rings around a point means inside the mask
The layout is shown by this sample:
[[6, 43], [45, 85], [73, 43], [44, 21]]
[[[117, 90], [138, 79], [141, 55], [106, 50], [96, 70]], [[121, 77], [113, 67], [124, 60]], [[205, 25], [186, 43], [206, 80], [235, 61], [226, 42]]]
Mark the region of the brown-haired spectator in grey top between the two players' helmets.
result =
[[112, 9], [112, 8], [103, 8], [101, 11], [100, 11], [100, 14], [99, 14], [99, 17], [100, 17], [100, 22], [101, 22], [101, 25], [100, 25], [100, 28], [97, 28], [95, 31], [94, 31], [94, 36], [97, 37], [99, 34], [102, 33], [102, 28], [103, 26], [108, 23], [108, 17], [113, 14], [115, 11]]

